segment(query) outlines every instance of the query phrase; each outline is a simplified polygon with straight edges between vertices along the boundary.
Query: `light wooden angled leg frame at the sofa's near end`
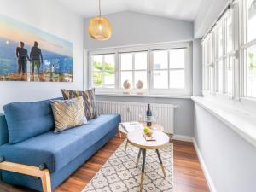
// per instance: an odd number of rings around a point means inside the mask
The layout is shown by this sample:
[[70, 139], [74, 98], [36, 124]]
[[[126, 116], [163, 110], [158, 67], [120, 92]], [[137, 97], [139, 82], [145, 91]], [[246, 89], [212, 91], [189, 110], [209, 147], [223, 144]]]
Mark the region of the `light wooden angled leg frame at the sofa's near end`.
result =
[[3, 161], [0, 162], [0, 170], [18, 172], [20, 174], [39, 177], [42, 181], [43, 191], [51, 192], [50, 174], [48, 169], [40, 170], [37, 166], [26, 166], [22, 164]]

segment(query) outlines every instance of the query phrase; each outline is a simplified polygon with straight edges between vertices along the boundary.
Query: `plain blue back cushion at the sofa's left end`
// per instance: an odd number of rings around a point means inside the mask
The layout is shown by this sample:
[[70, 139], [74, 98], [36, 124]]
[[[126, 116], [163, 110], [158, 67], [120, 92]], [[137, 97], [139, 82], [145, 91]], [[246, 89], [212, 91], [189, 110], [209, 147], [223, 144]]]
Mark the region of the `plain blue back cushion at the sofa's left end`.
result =
[[50, 101], [13, 102], [3, 107], [9, 143], [19, 143], [54, 129]]

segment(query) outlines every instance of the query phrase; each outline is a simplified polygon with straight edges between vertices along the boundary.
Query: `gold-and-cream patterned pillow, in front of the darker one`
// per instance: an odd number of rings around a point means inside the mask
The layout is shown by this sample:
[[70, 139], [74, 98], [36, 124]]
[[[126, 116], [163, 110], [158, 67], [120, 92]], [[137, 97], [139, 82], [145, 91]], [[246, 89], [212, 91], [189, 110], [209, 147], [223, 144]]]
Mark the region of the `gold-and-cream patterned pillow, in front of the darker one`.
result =
[[82, 96], [70, 100], [53, 100], [51, 108], [55, 118], [55, 132], [84, 125], [84, 100]]

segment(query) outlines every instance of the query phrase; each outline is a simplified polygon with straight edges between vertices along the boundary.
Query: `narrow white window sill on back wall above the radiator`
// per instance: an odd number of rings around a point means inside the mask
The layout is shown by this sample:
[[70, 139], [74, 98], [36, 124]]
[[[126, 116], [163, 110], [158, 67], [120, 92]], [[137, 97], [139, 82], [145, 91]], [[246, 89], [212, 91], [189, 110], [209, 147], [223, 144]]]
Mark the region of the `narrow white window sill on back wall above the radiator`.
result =
[[149, 97], [149, 98], [173, 98], [173, 99], [191, 99], [191, 96], [168, 96], [168, 95], [152, 95], [152, 94], [124, 94], [124, 93], [97, 93], [96, 96], [127, 96], [127, 97]]

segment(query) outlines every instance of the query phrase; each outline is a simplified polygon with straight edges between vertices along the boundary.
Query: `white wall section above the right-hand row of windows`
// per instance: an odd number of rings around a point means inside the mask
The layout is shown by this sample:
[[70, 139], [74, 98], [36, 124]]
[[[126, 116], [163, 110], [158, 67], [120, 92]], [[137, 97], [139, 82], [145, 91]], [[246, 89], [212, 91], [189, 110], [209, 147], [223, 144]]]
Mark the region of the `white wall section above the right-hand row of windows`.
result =
[[203, 0], [194, 22], [194, 37], [202, 38], [229, 0]]

